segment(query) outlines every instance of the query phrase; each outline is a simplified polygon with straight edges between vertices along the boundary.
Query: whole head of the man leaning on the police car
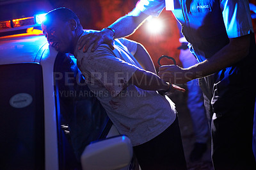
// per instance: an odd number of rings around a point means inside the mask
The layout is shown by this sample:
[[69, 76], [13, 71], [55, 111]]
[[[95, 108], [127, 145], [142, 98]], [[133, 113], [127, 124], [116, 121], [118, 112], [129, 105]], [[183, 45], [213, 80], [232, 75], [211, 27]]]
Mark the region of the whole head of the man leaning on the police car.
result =
[[68, 8], [57, 8], [45, 15], [42, 31], [49, 44], [59, 52], [74, 52], [83, 27], [77, 15]]

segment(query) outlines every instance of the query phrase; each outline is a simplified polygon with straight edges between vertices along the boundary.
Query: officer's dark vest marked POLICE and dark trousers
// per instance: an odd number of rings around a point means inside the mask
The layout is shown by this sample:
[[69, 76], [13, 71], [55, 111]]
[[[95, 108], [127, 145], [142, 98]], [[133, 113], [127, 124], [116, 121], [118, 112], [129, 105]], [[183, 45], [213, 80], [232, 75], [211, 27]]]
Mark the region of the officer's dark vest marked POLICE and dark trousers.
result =
[[[158, 1], [154, 5], [164, 2]], [[166, 0], [166, 7], [167, 1], [170, 0]], [[182, 24], [182, 33], [199, 62], [211, 58], [228, 44], [220, 0], [174, 0], [174, 8], [172, 12]], [[201, 79], [205, 101], [210, 104], [207, 110], [212, 110], [215, 169], [256, 169], [252, 151], [256, 47], [253, 33], [250, 35], [250, 54], [246, 58]]]

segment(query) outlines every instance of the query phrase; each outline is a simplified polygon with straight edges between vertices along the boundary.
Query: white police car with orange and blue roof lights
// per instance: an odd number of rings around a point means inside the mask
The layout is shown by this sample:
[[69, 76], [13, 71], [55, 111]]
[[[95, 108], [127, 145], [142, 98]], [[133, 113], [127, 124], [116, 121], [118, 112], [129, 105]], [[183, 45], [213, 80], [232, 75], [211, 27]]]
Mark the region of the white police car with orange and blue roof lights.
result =
[[37, 15], [0, 21], [1, 169], [134, 169], [131, 141], [74, 56], [49, 47], [39, 28]]

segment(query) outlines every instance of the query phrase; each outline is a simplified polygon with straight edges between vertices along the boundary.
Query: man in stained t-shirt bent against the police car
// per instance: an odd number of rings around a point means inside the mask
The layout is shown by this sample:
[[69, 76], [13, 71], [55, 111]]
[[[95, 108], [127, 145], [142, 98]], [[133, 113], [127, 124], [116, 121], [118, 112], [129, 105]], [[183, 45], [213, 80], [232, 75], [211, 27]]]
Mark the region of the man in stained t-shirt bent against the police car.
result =
[[84, 53], [77, 42], [90, 31], [83, 31], [74, 12], [58, 8], [45, 17], [42, 30], [48, 42], [77, 58], [88, 87], [120, 134], [131, 139], [141, 168], [186, 169], [175, 105], [163, 95], [184, 89], [156, 75], [150, 56], [139, 43], [119, 39], [115, 50], [102, 44], [95, 52]]

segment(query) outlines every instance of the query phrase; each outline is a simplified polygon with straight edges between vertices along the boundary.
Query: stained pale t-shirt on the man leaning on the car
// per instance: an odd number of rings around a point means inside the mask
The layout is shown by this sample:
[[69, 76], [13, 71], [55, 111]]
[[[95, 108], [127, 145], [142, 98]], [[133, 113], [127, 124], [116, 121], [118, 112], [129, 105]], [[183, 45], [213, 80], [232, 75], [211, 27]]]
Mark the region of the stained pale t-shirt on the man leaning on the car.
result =
[[136, 42], [121, 38], [115, 40], [115, 50], [102, 44], [95, 52], [88, 49], [84, 53], [77, 47], [74, 52], [88, 87], [100, 100], [120, 134], [127, 135], [133, 146], [161, 134], [176, 118], [175, 105], [170, 98], [132, 84], [127, 86], [132, 74], [141, 68], [128, 51], [136, 52], [136, 47]]

